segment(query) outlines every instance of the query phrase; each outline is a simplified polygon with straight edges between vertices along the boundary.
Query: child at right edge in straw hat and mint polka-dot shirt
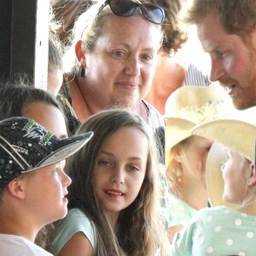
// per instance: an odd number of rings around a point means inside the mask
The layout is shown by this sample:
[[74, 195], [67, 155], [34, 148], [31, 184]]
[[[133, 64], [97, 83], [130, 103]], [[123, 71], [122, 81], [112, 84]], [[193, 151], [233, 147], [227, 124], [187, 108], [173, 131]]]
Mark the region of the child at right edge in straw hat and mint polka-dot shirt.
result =
[[255, 255], [256, 125], [235, 119], [213, 120], [196, 126], [192, 133], [229, 148], [228, 159], [221, 167], [223, 200], [239, 206], [197, 212], [186, 229], [175, 236], [173, 255]]

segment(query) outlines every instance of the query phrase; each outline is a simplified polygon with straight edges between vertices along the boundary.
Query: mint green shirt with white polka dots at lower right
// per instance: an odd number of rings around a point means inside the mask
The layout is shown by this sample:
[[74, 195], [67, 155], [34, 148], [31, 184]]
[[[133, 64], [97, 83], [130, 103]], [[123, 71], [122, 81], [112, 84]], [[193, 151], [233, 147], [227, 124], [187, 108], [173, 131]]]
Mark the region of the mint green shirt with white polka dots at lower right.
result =
[[256, 255], [256, 216], [227, 207], [201, 209], [174, 236], [173, 256]]

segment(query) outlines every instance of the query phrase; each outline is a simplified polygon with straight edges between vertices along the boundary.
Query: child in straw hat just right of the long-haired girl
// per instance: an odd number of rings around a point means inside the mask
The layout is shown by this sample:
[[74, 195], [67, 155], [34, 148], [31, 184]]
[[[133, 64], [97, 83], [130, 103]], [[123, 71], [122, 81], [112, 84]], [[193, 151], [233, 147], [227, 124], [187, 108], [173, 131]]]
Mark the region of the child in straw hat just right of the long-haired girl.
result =
[[169, 236], [182, 230], [195, 212], [208, 206], [205, 166], [212, 141], [192, 136], [204, 121], [224, 117], [230, 98], [217, 84], [183, 86], [166, 103], [166, 172], [170, 181]]

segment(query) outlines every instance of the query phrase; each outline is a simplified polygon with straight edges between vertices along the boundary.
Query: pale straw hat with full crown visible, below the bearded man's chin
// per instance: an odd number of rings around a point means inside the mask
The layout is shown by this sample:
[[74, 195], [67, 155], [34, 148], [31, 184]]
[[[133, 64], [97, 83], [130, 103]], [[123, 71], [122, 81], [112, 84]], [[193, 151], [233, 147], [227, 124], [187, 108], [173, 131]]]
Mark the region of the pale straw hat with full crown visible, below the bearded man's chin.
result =
[[166, 166], [171, 148], [190, 137], [195, 125], [221, 119], [233, 109], [230, 96], [218, 84], [185, 85], [175, 90], [166, 101]]

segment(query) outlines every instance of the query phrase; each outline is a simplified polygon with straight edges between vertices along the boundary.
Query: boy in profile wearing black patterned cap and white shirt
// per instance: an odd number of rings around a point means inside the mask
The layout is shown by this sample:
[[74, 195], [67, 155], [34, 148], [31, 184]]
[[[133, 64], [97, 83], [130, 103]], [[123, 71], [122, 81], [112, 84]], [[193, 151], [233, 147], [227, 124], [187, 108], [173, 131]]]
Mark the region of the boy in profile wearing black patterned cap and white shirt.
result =
[[[33, 242], [44, 225], [67, 214], [65, 159], [93, 132], [59, 140], [32, 119], [0, 121], [1, 254], [52, 255]], [[34, 172], [36, 171], [36, 172]]]

